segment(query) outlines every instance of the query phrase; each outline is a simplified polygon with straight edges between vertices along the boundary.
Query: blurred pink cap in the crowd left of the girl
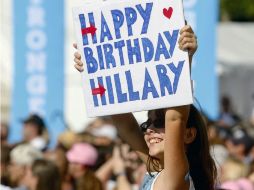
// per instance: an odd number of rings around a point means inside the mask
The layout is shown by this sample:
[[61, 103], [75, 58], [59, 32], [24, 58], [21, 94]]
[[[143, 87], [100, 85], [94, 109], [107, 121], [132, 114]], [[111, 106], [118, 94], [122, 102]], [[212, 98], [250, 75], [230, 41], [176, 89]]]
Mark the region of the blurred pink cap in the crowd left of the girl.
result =
[[98, 158], [97, 150], [88, 143], [77, 143], [66, 154], [69, 162], [93, 166]]

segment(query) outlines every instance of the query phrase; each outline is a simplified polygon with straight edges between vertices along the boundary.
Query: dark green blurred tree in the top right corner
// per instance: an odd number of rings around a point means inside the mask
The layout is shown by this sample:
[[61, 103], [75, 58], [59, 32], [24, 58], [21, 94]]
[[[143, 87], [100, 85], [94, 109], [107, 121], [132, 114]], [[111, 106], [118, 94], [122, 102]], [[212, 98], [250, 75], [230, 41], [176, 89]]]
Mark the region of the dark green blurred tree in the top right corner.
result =
[[220, 0], [220, 20], [254, 21], [254, 0]]

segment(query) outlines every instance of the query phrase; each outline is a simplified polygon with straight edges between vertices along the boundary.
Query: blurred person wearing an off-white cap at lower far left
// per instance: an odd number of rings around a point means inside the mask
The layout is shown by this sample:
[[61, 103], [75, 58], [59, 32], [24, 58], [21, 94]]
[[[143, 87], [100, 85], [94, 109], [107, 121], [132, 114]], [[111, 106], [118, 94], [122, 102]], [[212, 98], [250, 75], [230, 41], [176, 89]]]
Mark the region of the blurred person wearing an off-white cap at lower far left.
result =
[[9, 166], [10, 180], [15, 190], [27, 190], [25, 176], [36, 159], [43, 157], [42, 153], [30, 144], [15, 147], [11, 153]]

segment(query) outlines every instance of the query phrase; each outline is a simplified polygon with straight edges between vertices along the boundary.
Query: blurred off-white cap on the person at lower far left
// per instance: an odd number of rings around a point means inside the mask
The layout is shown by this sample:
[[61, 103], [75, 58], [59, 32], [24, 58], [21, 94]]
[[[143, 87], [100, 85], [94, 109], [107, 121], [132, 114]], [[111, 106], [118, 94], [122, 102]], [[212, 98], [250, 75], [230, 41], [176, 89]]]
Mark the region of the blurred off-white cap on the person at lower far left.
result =
[[36, 159], [42, 157], [42, 152], [29, 144], [18, 145], [11, 151], [11, 161], [18, 165], [32, 165]]

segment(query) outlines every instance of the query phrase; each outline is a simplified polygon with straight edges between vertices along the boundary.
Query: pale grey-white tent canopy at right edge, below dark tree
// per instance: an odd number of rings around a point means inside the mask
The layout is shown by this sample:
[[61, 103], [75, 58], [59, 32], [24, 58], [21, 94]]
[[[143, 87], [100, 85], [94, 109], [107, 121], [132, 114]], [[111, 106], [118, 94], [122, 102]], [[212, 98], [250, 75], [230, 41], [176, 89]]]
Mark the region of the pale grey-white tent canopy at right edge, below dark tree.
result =
[[254, 23], [218, 25], [218, 60], [231, 66], [254, 68]]

